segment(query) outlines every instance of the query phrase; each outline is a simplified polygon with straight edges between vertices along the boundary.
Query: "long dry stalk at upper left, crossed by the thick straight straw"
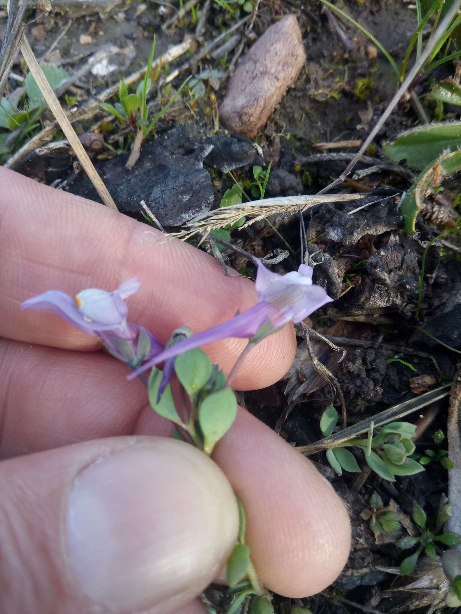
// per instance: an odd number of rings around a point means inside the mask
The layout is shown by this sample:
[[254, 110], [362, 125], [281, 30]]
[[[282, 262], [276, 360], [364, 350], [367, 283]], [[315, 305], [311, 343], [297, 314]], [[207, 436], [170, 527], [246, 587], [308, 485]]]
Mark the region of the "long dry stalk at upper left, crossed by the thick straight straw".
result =
[[[175, 60], [179, 55], [186, 53], [186, 51], [191, 47], [191, 42], [183, 42], [179, 45], [175, 45], [175, 47], [171, 47], [164, 55], [154, 60], [152, 63], [152, 68], [155, 68], [160, 63], [162, 66], [170, 63]], [[137, 81], [144, 76], [146, 69], [148, 67], [144, 66], [140, 71], [133, 72], [130, 76], [125, 79], [125, 84], [127, 86], [133, 85]], [[153, 88], [152, 88], [153, 89]], [[119, 84], [112, 85], [106, 90], [102, 91], [97, 98], [92, 99], [89, 103], [84, 104], [78, 109], [69, 109], [66, 112], [66, 117], [69, 122], [74, 123], [80, 120], [91, 119], [95, 114], [101, 111], [101, 103], [103, 103], [108, 98], [111, 98], [119, 91]], [[150, 93], [150, 92], [149, 92]], [[104, 120], [113, 119], [112, 115], [106, 115]], [[6, 168], [14, 168], [14, 166], [18, 163], [18, 161], [22, 160], [28, 153], [36, 149], [36, 147], [40, 147], [45, 145], [47, 142], [51, 141], [55, 133], [59, 130], [59, 124], [57, 122], [53, 122], [50, 126], [47, 126], [36, 134], [30, 141], [26, 142], [21, 149], [19, 149], [4, 165]]]

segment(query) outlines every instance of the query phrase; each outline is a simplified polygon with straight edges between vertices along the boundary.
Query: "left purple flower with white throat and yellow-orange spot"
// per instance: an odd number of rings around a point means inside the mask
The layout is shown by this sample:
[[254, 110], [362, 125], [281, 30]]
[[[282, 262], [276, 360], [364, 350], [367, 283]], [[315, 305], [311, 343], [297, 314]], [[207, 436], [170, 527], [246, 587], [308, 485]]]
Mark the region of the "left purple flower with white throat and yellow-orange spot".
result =
[[[140, 287], [140, 282], [134, 277], [122, 282], [113, 292], [89, 288], [79, 292], [75, 298], [59, 290], [49, 290], [24, 301], [21, 308], [47, 309], [87, 335], [102, 337], [111, 354], [133, 367], [164, 349], [146, 328], [127, 322], [125, 298], [138, 292]], [[138, 349], [143, 356], [138, 356]]]

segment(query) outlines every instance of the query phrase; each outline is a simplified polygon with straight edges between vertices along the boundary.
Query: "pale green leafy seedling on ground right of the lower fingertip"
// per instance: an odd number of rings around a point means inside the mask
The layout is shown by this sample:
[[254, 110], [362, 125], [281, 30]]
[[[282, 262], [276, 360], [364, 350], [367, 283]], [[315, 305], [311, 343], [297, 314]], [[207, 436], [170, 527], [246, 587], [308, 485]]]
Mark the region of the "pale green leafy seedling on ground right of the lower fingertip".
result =
[[[326, 408], [320, 419], [320, 429], [324, 437], [333, 432], [337, 423], [337, 411], [333, 405]], [[371, 423], [366, 439], [349, 439], [326, 451], [326, 458], [336, 471], [342, 475], [342, 470], [359, 473], [360, 467], [355, 456], [345, 448], [357, 447], [363, 450], [365, 461], [384, 480], [395, 481], [396, 475], [413, 475], [424, 471], [424, 467], [409, 455], [414, 452], [415, 445], [411, 438], [416, 427], [409, 422], [391, 422], [382, 427], [373, 437]]]

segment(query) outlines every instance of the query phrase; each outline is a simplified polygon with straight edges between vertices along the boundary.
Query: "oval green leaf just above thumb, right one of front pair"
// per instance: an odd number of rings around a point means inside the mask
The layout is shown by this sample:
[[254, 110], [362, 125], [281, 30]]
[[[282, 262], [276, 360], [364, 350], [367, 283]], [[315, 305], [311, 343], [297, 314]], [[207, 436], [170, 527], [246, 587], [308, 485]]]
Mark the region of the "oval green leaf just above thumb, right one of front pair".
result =
[[205, 453], [211, 454], [216, 443], [232, 426], [235, 416], [237, 399], [230, 388], [213, 392], [200, 403], [199, 423], [205, 440]]

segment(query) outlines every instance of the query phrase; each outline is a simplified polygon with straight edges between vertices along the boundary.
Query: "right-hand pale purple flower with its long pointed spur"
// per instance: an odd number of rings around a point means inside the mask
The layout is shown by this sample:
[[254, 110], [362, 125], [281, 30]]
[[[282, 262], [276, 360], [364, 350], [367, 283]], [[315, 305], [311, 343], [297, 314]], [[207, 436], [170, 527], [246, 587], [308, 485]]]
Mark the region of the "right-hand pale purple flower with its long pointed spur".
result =
[[[203, 330], [203, 332], [192, 335], [175, 346], [165, 349], [165, 351], [145, 362], [142, 367], [129, 376], [129, 379], [164, 360], [213, 341], [226, 337], [241, 337], [251, 340], [266, 325], [270, 330], [260, 332], [259, 338], [263, 338], [283, 327], [287, 322], [299, 324], [316, 309], [333, 300], [321, 286], [312, 283], [312, 273], [312, 266], [300, 265], [297, 271], [279, 275], [272, 273], [259, 262], [256, 275], [256, 292], [259, 302], [256, 305], [246, 309], [243, 313], [237, 314], [227, 322], [223, 322], [223, 324]], [[257, 343], [259, 338], [255, 338], [254, 343]]]

